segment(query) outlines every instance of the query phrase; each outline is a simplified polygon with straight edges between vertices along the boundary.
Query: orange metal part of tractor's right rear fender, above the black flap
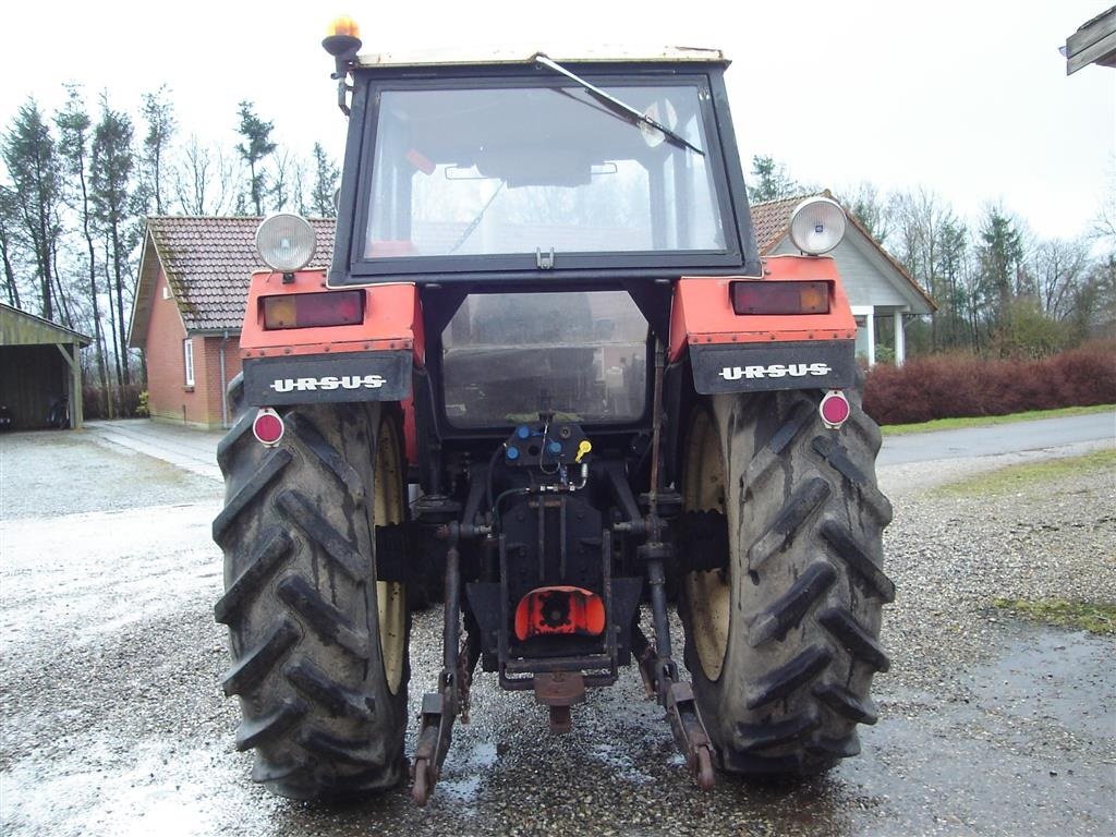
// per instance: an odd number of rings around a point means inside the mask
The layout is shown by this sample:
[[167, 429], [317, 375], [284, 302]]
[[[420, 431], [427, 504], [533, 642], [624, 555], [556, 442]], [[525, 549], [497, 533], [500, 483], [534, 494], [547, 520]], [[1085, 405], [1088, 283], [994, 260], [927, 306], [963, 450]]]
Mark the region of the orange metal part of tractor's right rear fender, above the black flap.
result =
[[[825, 314], [737, 314], [733, 282], [824, 282], [830, 299]], [[856, 320], [829, 257], [771, 256], [763, 260], [763, 277], [684, 277], [671, 308], [670, 359], [677, 360], [686, 346], [758, 344], [806, 340], [852, 340]]]

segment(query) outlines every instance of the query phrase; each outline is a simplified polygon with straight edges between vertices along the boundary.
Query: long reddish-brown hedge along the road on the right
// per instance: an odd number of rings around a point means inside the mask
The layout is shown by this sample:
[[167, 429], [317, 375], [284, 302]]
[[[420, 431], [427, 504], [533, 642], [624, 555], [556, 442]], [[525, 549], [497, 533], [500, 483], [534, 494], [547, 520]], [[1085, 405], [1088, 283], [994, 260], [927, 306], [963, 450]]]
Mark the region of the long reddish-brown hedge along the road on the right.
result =
[[921, 357], [874, 367], [864, 388], [864, 408], [881, 424], [1090, 404], [1116, 404], [1116, 340], [1042, 360]]

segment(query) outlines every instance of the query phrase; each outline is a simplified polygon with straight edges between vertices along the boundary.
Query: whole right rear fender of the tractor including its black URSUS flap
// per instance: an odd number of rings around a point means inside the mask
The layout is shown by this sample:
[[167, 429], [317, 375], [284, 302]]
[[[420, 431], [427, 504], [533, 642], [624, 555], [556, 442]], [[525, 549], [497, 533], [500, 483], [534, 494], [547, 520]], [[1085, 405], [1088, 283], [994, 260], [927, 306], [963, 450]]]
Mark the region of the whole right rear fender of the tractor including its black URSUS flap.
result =
[[[683, 277], [671, 306], [670, 359], [693, 369], [702, 395], [772, 389], [840, 389], [856, 378], [856, 320], [834, 260], [772, 256], [761, 277]], [[737, 314], [732, 286], [822, 282], [828, 310], [818, 314]], [[787, 286], [782, 286], [786, 288]]]

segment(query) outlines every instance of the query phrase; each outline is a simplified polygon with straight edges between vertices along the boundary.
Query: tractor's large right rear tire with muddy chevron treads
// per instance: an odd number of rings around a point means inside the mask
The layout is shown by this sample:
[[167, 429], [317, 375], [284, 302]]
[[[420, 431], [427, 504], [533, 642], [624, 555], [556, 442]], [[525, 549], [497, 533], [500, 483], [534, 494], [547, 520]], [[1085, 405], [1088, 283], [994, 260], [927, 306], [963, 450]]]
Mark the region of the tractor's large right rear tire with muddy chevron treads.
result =
[[690, 419], [684, 508], [706, 527], [724, 516], [728, 555], [727, 569], [683, 577], [680, 610], [729, 772], [819, 772], [859, 752], [857, 723], [876, 722], [881, 606], [895, 596], [881, 570], [892, 509], [876, 488], [879, 430], [853, 393], [848, 422], [826, 429], [818, 395], [719, 395]]

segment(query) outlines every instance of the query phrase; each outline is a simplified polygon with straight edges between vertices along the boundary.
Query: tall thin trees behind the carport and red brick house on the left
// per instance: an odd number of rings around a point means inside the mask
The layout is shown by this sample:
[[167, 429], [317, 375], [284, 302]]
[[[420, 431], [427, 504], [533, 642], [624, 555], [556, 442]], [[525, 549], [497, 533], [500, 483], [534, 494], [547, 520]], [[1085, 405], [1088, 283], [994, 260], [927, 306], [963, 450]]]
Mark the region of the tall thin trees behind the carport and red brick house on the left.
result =
[[107, 395], [142, 378], [127, 328], [145, 213], [230, 214], [238, 191], [242, 211], [314, 211], [312, 186], [333, 214], [338, 175], [320, 145], [312, 173], [280, 148], [249, 102], [243, 142], [222, 146], [180, 137], [165, 85], [143, 94], [138, 123], [107, 93], [90, 108], [66, 92], [57, 113], [28, 98], [0, 125], [0, 301], [92, 335], [90, 379]]

